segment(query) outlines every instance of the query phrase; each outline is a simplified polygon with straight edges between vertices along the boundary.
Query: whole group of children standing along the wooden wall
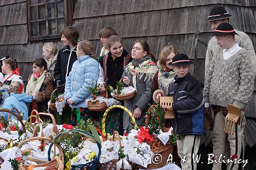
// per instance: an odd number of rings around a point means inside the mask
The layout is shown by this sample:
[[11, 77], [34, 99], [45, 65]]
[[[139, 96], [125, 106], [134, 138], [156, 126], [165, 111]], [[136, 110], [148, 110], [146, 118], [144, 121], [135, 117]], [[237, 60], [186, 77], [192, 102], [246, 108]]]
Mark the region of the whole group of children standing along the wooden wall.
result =
[[[89, 111], [85, 103], [91, 98], [89, 87], [98, 84], [100, 94], [104, 95], [110, 93], [106, 91], [107, 86], [116, 89], [117, 82], [122, 78], [123, 84], [133, 86], [137, 91], [132, 99], [122, 102], [122, 105], [133, 112], [139, 127], [144, 126], [149, 103], [159, 102], [161, 96], [174, 97], [175, 118], [166, 125], [172, 126], [174, 132], [181, 135], [181, 140], [177, 142], [178, 153], [187, 155], [187, 161], [181, 164], [182, 169], [196, 169], [191, 157], [193, 153], [197, 154], [200, 136], [204, 134], [204, 108], [208, 112], [211, 108], [215, 118], [212, 131], [214, 154], [219, 156], [229, 147], [226, 154], [240, 158], [244, 111], [253, 91], [255, 69], [252, 63], [255, 53], [248, 36], [229, 25], [230, 16], [223, 7], [217, 6], [207, 19], [215, 30], [212, 34], [215, 37], [210, 40], [206, 54], [204, 93], [189, 73], [193, 62], [174, 46], [165, 46], [156, 63], [146, 41], [135, 41], [132, 51], [127, 52], [116, 30], [106, 27], [99, 33], [103, 47], [100, 56], [96, 57], [93, 44], [88, 40], [78, 42], [78, 30], [67, 27], [60, 32], [65, 47], [56, 55], [55, 45], [46, 43], [42, 48], [44, 59], [38, 58], [32, 63], [33, 74], [28, 81], [26, 94], [16, 60], [9, 58], [3, 61], [2, 72], [5, 76], [2, 75], [3, 80], [0, 80], [0, 90], [7, 90], [1, 93], [1, 107], [17, 108], [26, 119], [32, 109], [46, 112], [51, 93], [58, 88], [59, 92], [64, 92], [70, 106], [61, 116], [55, 113], [60, 117], [60, 123], [78, 125], [81, 120], [88, 118], [100, 121], [103, 113]], [[29, 108], [26, 104], [29, 104]], [[241, 124], [234, 128], [236, 135], [223, 132], [227, 104], [242, 109]], [[7, 117], [5, 113], [2, 115]], [[117, 130], [123, 134], [133, 128], [131, 118], [123, 114], [123, 110], [115, 108], [106, 117], [107, 133], [112, 134]], [[237, 166], [230, 163], [228, 169], [237, 169]], [[221, 164], [214, 164], [214, 169], [221, 169]]]

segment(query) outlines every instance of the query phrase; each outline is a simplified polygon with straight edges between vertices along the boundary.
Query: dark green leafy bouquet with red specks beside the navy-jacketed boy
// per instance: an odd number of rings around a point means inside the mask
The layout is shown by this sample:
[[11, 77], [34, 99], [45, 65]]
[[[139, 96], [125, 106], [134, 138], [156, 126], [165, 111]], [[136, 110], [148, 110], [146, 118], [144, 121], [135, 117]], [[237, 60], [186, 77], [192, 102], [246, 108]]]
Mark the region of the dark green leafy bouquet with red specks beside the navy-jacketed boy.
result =
[[160, 106], [160, 103], [150, 106], [146, 112], [146, 126], [148, 127], [151, 135], [157, 136], [160, 133], [160, 130], [164, 132], [164, 116], [165, 112]]

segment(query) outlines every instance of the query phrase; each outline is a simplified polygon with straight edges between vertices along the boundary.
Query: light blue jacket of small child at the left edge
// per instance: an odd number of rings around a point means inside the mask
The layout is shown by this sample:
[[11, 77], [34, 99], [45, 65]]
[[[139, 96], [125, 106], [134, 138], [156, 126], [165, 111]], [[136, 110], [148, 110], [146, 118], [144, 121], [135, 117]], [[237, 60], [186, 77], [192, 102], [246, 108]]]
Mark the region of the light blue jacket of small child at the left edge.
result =
[[[32, 101], [32, 95], [28, 94], [16, 94], [11, 93], [9, 98], [5, 100], [5, 103], [3, 105], [3, 108], [11, 110], [12, 108], [16, 108], [20, 114], [23, 114], [23, 120], [27, 120], [28, 118], [28, 107], [27, 104], [29, 104]], [[14, 111], [15, 112], [15, 111]], [[7, 112], [0, 112], [1, 116], [7, 120], [8, 113]], [[10, 115], [10, 120], [14, 119], [13, 115]]]

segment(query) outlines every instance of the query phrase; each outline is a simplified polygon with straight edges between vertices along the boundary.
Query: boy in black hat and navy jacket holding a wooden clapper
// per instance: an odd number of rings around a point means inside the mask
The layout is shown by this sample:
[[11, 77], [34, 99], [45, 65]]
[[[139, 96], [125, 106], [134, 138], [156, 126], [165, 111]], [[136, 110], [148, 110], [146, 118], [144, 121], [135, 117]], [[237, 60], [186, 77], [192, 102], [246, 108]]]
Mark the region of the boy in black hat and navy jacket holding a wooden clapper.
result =
[[169, 86], [169, 96], [174, 97], [173, 110], [175, 119], [172, 126], [176, 134], [181, 135], [177, 141], [178, 153], [186, 155], [181, 161], [182, 169], [197, 169], [193, 162], [200, 145], [200, 135], [204, 134], [204, 98], [199, 83], [188, 72], [190, 61], [185, 54], [174, 56], [173, 62], [176, 76]]

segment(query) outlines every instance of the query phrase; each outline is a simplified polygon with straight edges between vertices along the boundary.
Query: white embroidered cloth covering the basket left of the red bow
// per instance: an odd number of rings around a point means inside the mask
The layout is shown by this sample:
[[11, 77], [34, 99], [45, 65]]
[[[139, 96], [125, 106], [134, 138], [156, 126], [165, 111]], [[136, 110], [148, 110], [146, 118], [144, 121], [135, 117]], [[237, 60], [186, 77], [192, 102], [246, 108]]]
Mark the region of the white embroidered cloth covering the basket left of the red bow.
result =
[[[129, 161], [147, 167], [151, 163], [153, 152], [150, 150], [150, 145], [145, 142], [138, 142], [137, 139], [122, 138], [124, 155], [129, 155]], [[119, 159], [119, 141], [107, 140], [102, 143], [100, 163], [109, 162], [113, 159]], [[127, 157], [125, 157], [127, 159]]]

